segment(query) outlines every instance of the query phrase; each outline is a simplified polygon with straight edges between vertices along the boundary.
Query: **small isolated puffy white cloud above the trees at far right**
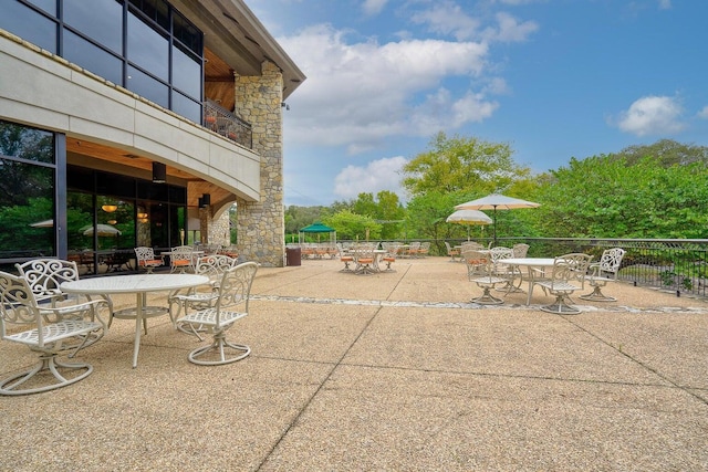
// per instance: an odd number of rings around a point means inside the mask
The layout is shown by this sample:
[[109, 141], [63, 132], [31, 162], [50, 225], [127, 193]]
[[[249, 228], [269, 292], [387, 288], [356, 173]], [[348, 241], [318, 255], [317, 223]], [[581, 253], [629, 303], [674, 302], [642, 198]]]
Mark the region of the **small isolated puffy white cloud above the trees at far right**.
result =
[[637, 136], [673, 134], [684, 129], [681, 113], [676, 98], [645, 96], [620, 115], [617, 126]]

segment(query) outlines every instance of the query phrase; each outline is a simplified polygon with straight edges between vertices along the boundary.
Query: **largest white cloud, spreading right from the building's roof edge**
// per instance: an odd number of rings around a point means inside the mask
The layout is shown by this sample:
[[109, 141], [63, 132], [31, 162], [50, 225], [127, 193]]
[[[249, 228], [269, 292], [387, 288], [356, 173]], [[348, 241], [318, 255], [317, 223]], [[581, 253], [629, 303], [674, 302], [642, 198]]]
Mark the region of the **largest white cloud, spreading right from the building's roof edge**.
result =
[[[485, 77], [488, 48], [477, 42], [406, 40], [348, 44], [346, 35], [317, 25], [279, 42], [308, 75], [289, 99], [287, 133], [293, 143], [371, 148], [386, 137], [429, 136], [479, 122], [498, 106], [488, 94], [499, 83]], [[467, 78], [461, 91], [437, 99], [446, 81]], [[470, 91], [476, 78], [490, 88]], [[419, 96], [429, 95], [428, 98]], [[469, 109], [455, 109], [460, 101]], [[446, 109], [446, 107], [449, 107]], [[459, 107], [458, 107], [459, 108]], [[430, 114], [437, 109], [437, 113]], [[290, 119], [291, 118], [291, 119]], [[425, 122], [426, 126], [417, 126]]]

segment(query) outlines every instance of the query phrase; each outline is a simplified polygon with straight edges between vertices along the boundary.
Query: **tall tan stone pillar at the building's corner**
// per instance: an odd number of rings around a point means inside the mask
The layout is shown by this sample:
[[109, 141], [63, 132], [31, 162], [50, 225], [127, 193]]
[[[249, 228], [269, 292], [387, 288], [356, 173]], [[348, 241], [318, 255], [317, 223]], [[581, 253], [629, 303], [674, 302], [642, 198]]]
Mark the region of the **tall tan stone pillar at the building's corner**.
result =
[[261, 200], [237, 199], [238, 250], [247, 261], [281, 268], [285, 253], [282, 90], [280, 69], [263, 62], [260, 76], [236, 76], [236, 108], [249, 122], [261, 156]]

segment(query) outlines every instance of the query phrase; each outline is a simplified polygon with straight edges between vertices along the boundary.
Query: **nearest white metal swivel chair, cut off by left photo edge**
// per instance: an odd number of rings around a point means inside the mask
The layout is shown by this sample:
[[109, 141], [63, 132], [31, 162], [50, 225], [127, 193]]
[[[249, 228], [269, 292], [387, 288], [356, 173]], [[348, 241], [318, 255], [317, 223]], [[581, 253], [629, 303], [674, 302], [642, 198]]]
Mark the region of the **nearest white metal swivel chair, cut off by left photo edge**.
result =
[[[107, 326], [98, 313], [102, 306], [108, 307], [108, 302], [41, 306], [25, 277], [0, 272], [0, 335], [39, 353], [34, 367], [0, 381], [0, 395], [39, 394], [91, 375], [90, 364], [60, 361], [58, 357], [74, 357], [103, 337]], [[23, 327], [30, 329], [21, 331]]]

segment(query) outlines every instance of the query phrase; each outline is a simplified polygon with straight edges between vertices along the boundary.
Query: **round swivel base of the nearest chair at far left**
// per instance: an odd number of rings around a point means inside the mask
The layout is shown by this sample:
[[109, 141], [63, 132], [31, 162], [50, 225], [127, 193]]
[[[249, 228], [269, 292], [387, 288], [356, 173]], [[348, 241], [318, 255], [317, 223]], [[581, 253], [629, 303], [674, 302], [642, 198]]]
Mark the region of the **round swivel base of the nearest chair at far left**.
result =
[[[62, 375], [58, 368], [66, 369]], [[85, 370], [81, 375], [75, 377], [67, 376], [66, 374], [75, 374], [81, 370]], [[17, 374], [0, 382], [0, 395], [30, 395], [40, 394], [42, 391], [54, 390], [56, 388], [65, 387], [71, 384], [75, 384], [79, 380], [83, 380], [88, 377], [93, 371], [93, 366], [85, 363], [60, 363], [56, 359], [55, 354], [42, 354], [40, 355], [40, 361], [30, 370], [25, 370], [21, 374]], [[35, 376], [51, 374], [53, 378], [49, 385], [42, 385], [33, 388], [18, 388], [25, 384], [28, 380], [35, 378]]]

